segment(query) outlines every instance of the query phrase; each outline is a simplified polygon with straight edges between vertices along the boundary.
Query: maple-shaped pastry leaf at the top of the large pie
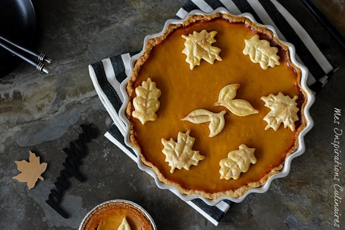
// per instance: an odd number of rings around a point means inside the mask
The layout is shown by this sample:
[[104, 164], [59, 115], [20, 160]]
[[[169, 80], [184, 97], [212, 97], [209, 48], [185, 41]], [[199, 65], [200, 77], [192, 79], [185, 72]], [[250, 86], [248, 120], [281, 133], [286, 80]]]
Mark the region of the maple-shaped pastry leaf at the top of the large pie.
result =
[[213, 64], [217, 59], [221, 61], [222, 58], [219, 56], [221, 51], [218, 47], [214, 47], [211, 44], [215, 43], [214, 39], [217, 31], [208, 33], [205, 29], [201, 32], [193, 31], [188, 35], [182, 34], [182, 37], [186, 39], [185, 49], [182, 51], [187, 55], [186, 62], [189, 63], [189, 68], [192, 70], [195, 65], [200, 65], [201, 59]]

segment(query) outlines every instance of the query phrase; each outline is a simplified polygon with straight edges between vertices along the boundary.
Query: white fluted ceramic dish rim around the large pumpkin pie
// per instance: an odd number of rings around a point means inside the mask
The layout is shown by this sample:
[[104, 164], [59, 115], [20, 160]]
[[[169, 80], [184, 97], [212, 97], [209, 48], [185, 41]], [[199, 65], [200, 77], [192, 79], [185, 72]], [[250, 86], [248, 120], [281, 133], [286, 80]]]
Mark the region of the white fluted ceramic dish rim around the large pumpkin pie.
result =
[[[202, 12], [202, 11], [199, 11], [199, 10], [194, 10], [192, 12], [189, 13], [189, 15], [186, 17], [188, 18], [190, 15], [212, 15], [214, 13], [222, 13], [222, 14], [230, 14], [225, 8], [218, 8], [217, 10], [211, 12], [211, 13], [205, 13], [205, 12]], [[250, 19], [253, 23], [256, 23], [254, 17], [249, 14], [249, 13], [244, 13], [244, 14], [240, 14], [238, 16], [243, 16], [243, 17], [246, 17], [248, 19]], [[166, 30], [167, 26], [170, 25], [170, 24], [182, 24], [183, 21], [186, 20], [185, 19], [181, 19], [181, 20], [177, 20], [177, 19], [170, 19], [170, 20], [167, 20], [164, 24], [164, 27], [162, 29], [161, 32], [159, 33], [155, 33], [155, 34], [150, 34], [150, 35], [147, 35], [145, 37], [145, 40], [144, 40], [144, 48], [143, 48], [143, 51], [135, 56], [133, 56], [130, 60], [130, 71], [133, 70], [133, 66], [136, 62], [136, 60], [141, 57], [145, 51], [145, 46], [147, 44], [147, 42], [152, 39], [152, 38], [155, 38], [155, 37], [158, 37], [160, 35], [162, 35], [164, 33], [164, 31]], [[256, 23], [257, 26], [259, 27], [264, 27], [264, 28], [268, 28], [269, 30], [271, 30], [274, 34], [274, 37], [276, 37], [278, 39], [278, 35], [277, 35], [277, 31], [270, 25], [261, 25], [261, 24], [258, 24]], [[279, 40], [279, 39], [278, 39]], [[295, 52], [295, 47], [290, 44], [290, 43], [287, 43], [287, 42], [283, 42], [281, 40], [279, 40], [282, 44], [286, 45], [289, 47], [289, 53], [290, 53], [290, 59], [291, 59], [291, 62], [293, 64], [295, 64], [300, 70], [301, 70], [301, 82], [300, 82], [300, 86], [301, 86], [301, 89], [305, 91], [306, 95], [307, 95], [307, 102], [305, 104], [305, 108], [303, 110], [304, 112], [304, 117], [305, 117], [305, 120], [306, 120], [306, 126], [305, 128], [299, 133], [298, 135], [298, 141], [299, 141], [299, 146], [298, 148], [285, 160], [285, 163], [284, 163], [284, 167], [280, 170], [279, 173], [277, 174], [274, 174], [272, 175], [267, 181], [265, 184], [263, 184], [262, 186], [260, 187], [256, 187], [256, 188], [252, 188], [250, 190], [248, 190], [243, 196], [241, 197], [238, 197], [238, 198], [231, 198], [231, 197], [221, 197], [217, 200], [210, 200], [210, 199], [206, 199], [204, 197], [201, 197], [201, 196], [196, 196], [196, 195], [184, 195], [184, 194], [181, 194], [180, 191], [174, 187], [174, 186], [168, 186], [168, 185], [165, 185], [163, 184], [157, 177], [157, 175], [155, 174], [155, 172], [153, 170], [151, 170], [151, 168], [149, 168], [148, 166], [144, 165], [141, 161], [141, 158], [137, 158], [137, 165], [138, 167], [143, 170], [143, 171], [146, 171], [147, 173], [149, 173], [154, 179], [155, 179], [155, 182], [157, 184], [157, 186], [159, 188], [162, 188], [162, 189], [170, 189], [171, 191], [173, 191], [177, 196], [179, 196], [182, 200], [184, 201], [189, 201], [189, 200], [192, 200], [192, 199], [195, 199], [195, 198], [200, 198], [201, 200], [203, 200], [206, 204], [208, 205], [216, 205], [218, 204], [220, 201], [224, 200], [224, 199], [227, 199], [227, 200], [230, 200], [230, 201], [233, 201], [233, 202], [241, 202], [243, 201], [249, 194], [251, 193], [265, 193], [271, 182], [276, 179], [276, 178], [281, 178], [281, 177], [285, 177], [289, 174], [290, 172], [290, 167], [291, 167], [291, 162], [292, 162], [292, 159], [294, 159], [295, 157], [298, 157], [300, 155], [303, 154], [304, 150], [305, 150], [305, 144], [304, 144], [304, 135], [312, 128], [313, 126], [313, 120], [312, 118], [310, 117], [310, 114], [309, 114], [309, 108], [310, 106], [313, 104], [315, 98], [314, 98], [314, 95], [313, 95], [313, 92], [308, 88], [308, 86], [306, 85], [306, 82], [307, 82], [307, 76], [308, 76], [308, 70], [307, 68], [300, 64], [297, 60], [296, 60], [296, 52]], [[130, 136], [130, 124], [129, 124], [129, 121], [126, 117], [126, 106], [127, 106], [127, 103], [128, 103], [128, 95], [127, 95], [127, 91], [126, 91], [126, 86], [127, 86], [127, 83], [128, 83], [128, 80], [129, 78], [127, 78], [125, 81], [123, 81], [123, 83], [121, 84], [121, 92], [124, 96], [124, 103], [119, 111], [119, 116], [121, 118], [121, 120], [124, 122], [125, 126], [126, 126], [126, 134], [124, 136], [124, 139], [125, 139], [125, 143], [133, 149], [133, 151], [135, 152], [135, 154], [137, 156], [140, 156], [139, 154], [139, 150], [132, 146], [130, 141], [129, 141], [129, 136]]]

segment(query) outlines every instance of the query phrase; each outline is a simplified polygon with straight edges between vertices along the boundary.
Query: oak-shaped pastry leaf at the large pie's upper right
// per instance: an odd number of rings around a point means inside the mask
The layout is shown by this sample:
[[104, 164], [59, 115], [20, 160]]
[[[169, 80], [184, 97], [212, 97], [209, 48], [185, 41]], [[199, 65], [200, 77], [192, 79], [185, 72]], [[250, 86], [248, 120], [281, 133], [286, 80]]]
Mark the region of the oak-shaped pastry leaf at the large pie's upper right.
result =
[[259, 63], [262, 69], [267, 69], [268, 66], [280, 65], [279, 56], [277, 55], [278, 48], [270, 47], [269, 42], [260, 40], [258, 34], [255, 34], [252, 39], [245, 39], [245, 43], [246, 47], [243, 54], [249, 55], [251, 61]]

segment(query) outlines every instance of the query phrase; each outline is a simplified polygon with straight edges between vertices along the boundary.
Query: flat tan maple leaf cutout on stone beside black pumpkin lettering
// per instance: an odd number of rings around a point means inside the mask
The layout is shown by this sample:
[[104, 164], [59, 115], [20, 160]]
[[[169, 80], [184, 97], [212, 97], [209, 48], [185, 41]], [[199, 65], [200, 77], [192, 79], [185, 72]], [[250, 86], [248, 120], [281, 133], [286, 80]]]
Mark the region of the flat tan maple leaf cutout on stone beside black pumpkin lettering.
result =
[[41, 174], [46, 171], [47, 163], [40, 164], [40, 157], [29, 151], [29, 162], [15, 161], [17, 169], [21, 172], [17, 176], [12, 177], [20, 182], [26, 182], [29, 189], [33, 188], [38, 179], [44, 180]]

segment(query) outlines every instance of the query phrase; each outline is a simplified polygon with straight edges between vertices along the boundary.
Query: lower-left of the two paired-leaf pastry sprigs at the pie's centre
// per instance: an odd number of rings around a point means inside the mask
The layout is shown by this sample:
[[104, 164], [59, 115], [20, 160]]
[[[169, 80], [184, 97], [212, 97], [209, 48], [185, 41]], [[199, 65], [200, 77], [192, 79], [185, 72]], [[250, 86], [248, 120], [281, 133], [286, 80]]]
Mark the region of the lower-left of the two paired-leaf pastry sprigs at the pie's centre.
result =
[[205, 122], [210, 122], [209, 137], [214, 137], [219, 134], [225, 125], [224, 114], [226, 111], [221, 111], [219, 113], [213, 113], [206, 109], [196, 109], [189, 113], [187, 117], [181, 119], [182, 121], [189, 121], [194, 124], [201, 124]]

